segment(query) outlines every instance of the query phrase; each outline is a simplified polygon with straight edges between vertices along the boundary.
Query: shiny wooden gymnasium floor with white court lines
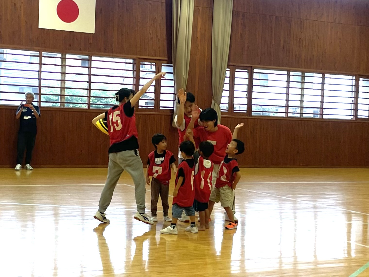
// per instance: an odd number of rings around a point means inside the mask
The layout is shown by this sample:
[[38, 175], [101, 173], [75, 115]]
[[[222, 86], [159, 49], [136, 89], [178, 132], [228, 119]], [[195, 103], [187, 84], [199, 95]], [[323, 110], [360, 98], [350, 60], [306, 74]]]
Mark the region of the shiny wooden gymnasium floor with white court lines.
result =
[[347, 277], [369, 265], [367, 169], [241, 172], [237, 230], [224, 230], [218, 206], [210, 230], [186, 233], [180, 223], [176, 236], [160, 235], [162, 213], [153, 226], [132, 218], [127, 174], [110, 225], [99, 225], [106, 169], [1, 169], [0, 276]]

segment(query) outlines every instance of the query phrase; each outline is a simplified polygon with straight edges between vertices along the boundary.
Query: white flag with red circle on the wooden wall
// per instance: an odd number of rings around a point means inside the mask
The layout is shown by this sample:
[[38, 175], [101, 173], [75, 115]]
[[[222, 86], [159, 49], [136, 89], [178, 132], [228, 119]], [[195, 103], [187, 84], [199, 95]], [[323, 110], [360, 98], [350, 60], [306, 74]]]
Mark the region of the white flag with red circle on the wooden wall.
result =
[[96, 0], [39, 1], [38, 28], [95, 33]]

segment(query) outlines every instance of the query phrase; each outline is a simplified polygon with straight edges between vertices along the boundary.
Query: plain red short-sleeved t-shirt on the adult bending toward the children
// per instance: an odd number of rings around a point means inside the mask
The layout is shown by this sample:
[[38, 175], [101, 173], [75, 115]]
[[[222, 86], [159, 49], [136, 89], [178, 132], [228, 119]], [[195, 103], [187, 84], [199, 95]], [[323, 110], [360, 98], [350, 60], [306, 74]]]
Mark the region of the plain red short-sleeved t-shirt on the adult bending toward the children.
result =
[[200, 141], [209, 141], [214, 145], [214, 152], [209, 157], [214, 164], [220, 164], [225, 155], [225, 149], [232, 141], [231, 130], [221, 124], [218, 124], [218, 130], [215, 132], [208, 132], [204, 127], [199, 126], [193, 129], [193, 136], [200, 138]]

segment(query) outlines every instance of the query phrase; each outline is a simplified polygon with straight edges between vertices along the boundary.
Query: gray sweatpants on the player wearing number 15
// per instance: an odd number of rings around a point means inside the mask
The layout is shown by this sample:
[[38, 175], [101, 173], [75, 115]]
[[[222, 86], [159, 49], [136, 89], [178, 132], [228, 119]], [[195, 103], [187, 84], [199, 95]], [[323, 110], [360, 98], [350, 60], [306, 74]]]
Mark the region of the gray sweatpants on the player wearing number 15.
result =
[[[137, 153], [137, 155], [136, 155]], [[135, 184], [135, 198], [137, 211], [145, 212], [146, 181], [144, 177], [144, 166], [139, 157], [138, 150], [122, 151], [109, 154], [108, 177], [99, 201], [99, 211], [104, 213], [110, 205], [111, 198], [117, 182], [126, 170], [131, 175]]]

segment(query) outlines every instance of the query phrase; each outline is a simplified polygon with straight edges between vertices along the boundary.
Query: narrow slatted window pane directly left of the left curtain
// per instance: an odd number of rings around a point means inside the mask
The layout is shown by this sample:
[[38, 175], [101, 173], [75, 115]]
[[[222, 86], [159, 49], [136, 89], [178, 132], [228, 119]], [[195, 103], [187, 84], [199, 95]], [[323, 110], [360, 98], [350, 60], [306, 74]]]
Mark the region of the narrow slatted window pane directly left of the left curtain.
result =
[[160, 83], [160, 109], [174, 109], [176, 93], [174, 91], [173, 65], [162, 64], [161, 72], [165, 72], [165, 79]]

